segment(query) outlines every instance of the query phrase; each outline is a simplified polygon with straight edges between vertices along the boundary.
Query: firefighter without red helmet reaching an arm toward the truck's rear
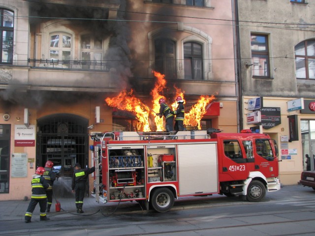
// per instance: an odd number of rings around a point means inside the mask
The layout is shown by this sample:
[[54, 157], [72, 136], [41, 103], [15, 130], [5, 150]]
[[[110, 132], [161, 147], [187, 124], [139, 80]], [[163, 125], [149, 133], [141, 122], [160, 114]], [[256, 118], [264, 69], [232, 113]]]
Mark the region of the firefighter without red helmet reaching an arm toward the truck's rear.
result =
[[[101, 162], [99, 163], [99, 165]], [[81, 169], [80, 163], [74, 166], [74, 173], [72, 177], [72, 192], [75, 192], [75, 206], [77, 213], [84, 213], [82, 210], [83, 199], [85, 195], [85, 185], [90, 174], [95, 171], [95, 167]]]

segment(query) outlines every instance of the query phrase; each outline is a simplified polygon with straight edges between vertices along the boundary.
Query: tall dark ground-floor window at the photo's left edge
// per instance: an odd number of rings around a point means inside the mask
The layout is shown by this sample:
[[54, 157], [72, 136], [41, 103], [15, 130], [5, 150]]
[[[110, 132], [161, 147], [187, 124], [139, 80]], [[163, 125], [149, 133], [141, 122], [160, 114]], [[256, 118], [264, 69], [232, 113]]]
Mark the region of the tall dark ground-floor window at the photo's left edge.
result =
[[0, 125], [0, 193], [9, 192], [11, 125]]

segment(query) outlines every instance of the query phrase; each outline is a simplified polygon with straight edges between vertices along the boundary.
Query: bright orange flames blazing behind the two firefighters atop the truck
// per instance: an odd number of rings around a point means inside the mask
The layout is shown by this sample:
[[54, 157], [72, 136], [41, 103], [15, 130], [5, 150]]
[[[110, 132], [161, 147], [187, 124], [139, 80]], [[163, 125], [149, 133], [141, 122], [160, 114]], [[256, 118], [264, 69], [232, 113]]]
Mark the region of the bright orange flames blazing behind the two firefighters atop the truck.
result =
[[[130, 92], [127, 92], [126, 90], [121, 91], [117, 96], [115, 97], [107, 97], [105, 99], [106, 103], [110, 107], [117, 107], [120, 110], [126, 110], [129, 112], [132, 112], [135, 114], [138, 122], [137, 122], [137, 130], [138, 131], [163, 131], [164, 125], [163, 125], [163, 119], [156, 116], [156, 114], [159, 112], [159, 103], [158, 100], [163, 97], [162, 92], [166, 88], [166, 80], [164, 79], [164, 75], [160, 74], [156, 71], [153, 71], [154, 76], [156, 77], [156, 82], [154, 89], [150, 92], [152, 96], [152, 109], [150, 109], [145, 103], [143, 103], [140, 99], [134, 96], [133, 90], [131, 89]], [[181, 89], [178, 89], [176, 86], [174, 86], [175, 89], [175, 96], [172, 101], [174, 101], [172, 104], [167, 104], [171, 106], [172, 110], [176, 110], [177, 103], [175, 101], [175, 98], [177, 96], [181, 96], [184, 98], [185, 91], [182, 91]], [[197, 103], [195, 103], [191, 108], [185, 105], [185, 120], [184, 124], [187, 126], [193, 126], [198, 127], [198, 129], [201, 129], [201, 119], [203, 115], [207, 112], [206, 107], [211, 102], [213, 102], [215, 99], [215, 96], [200, 96]], [[166, 100], [166, 98], [165, 98]], [[151, 115], [151, 116], [150, 116]], [[151, 122], [150, 122], [151, 120]], [[150, 125], [150, 123], [152, 125]], [[154, 128], [150, 126], [155, 126]]]

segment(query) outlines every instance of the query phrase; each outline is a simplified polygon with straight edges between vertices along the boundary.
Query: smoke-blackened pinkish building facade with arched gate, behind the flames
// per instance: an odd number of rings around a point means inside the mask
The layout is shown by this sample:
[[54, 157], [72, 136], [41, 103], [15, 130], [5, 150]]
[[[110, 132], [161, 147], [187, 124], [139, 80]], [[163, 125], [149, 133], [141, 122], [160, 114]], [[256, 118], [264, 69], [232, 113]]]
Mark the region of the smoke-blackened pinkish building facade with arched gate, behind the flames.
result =
[[154, 72], [169, 103], [179, 92], [187, 109], [215, 97], [201, 128], [237, 132], [233, 9], [231, 0], [0, 0], [0, 201], [30, 197], [47, 160], [60, 175], [56, 195], [71, 196], [74, 163], [92, 166], [91, 132], [141, 131], [105, 99], [133, 91], [153, 107]]

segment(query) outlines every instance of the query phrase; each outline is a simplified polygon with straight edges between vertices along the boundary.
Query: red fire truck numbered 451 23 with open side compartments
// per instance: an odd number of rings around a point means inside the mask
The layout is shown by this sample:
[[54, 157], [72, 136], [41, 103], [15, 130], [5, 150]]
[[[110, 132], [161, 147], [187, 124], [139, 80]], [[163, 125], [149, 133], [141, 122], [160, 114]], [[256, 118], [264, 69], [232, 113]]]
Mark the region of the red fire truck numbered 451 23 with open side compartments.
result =
[[278, 148], [267, 134], [249, 131], [93, 134], [93, 196], [102, 203], [135, 200], [158, 212], [183, 196], [244, 195], [259, 202], [280, 189]]

